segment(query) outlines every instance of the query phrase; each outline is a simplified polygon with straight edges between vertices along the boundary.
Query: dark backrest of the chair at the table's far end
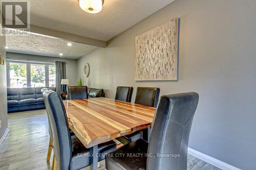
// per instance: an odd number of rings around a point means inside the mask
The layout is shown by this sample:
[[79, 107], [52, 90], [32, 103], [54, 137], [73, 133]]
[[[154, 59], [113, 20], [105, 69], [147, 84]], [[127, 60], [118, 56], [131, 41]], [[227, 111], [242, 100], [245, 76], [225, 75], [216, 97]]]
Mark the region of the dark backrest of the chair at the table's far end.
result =
[[88, 99], [87, 86], [68, 86], [68, 98], [74, 99]]

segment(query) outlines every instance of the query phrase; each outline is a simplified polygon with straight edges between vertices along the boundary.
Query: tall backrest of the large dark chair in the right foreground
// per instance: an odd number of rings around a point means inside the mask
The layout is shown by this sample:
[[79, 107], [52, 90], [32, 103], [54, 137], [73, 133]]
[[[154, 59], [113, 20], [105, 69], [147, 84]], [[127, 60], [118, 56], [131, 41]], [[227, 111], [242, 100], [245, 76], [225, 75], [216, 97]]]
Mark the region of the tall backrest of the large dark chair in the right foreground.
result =
[[148, 144], [147, 170], [187, 169], [187, 145], [198, 100], [195, 92], [161, 96]]

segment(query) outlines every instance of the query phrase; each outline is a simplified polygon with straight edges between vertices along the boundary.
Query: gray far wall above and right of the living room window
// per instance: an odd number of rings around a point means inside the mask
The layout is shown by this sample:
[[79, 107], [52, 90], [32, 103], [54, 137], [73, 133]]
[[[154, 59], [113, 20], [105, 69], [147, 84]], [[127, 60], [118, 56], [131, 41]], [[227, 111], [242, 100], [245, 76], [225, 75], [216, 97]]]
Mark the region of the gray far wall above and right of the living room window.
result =
[[18, 54], [18, 53], [6, 53], [7, 59], [20, 59], [20, 60], [39, 60], [39, 61], [47, 61], [47, 62], [55, 62], [55, 61], [65, 61], [66, 62], [66, 74], [67, 79], [70, 80], [70, 85], [77, 85], [77, 62], [72, 59], [63, 59], [63, 58], [55, 58], [55, 57], [45, 57], [45, 56], [35, 56], [35, 55], [27, 55], [27, 54]]

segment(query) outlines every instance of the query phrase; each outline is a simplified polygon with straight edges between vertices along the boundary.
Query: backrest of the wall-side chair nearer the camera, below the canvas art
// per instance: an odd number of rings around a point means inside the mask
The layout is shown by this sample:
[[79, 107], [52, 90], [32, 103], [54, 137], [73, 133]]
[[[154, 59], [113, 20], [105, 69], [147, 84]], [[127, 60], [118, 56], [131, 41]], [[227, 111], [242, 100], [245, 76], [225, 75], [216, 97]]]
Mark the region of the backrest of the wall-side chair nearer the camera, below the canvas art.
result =
[[157, 87], [137, 87], [135, 103], [150, 107], [157, 107], [160, 88]]

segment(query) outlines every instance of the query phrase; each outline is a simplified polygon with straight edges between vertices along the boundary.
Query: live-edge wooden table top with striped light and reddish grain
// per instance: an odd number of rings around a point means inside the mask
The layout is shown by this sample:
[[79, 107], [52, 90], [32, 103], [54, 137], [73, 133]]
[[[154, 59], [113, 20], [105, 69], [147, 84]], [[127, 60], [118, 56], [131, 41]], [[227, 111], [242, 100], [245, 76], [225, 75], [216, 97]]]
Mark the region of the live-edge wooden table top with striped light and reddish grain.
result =
[[151, 127], [156, 109], [108, 98], [63, 101], [69, 128], [86, 148]]

